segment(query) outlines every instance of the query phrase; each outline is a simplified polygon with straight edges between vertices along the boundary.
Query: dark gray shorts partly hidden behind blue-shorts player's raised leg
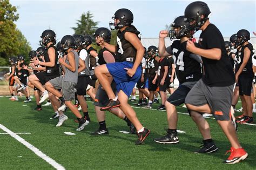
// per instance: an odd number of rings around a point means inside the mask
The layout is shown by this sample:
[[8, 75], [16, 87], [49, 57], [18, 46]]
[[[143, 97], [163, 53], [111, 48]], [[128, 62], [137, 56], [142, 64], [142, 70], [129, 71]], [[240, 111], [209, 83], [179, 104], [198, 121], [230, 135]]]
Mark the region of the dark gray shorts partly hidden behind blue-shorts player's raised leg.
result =
[[[115, 94], [117, 93], [116, 86], [117, 86], [116, 83], [112, 81], [111, 87]], [[107, 96], [106, 91], [102, 89], [102, 85], [99, 85], [93, 105], [103, 107], [103, 106], [106, 106], [108, 102], [109, 102], [109, 97]]]

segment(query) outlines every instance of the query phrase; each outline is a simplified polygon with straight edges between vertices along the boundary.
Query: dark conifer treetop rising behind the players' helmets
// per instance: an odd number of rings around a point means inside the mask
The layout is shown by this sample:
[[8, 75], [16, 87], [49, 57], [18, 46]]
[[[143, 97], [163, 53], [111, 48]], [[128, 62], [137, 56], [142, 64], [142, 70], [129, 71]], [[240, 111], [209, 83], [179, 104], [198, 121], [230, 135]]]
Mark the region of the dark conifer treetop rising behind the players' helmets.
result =
[[72, 27], [75, 34], [80, 35], [92, 35], [96, 29], [99, 22], [94, 22], [92, 19], [93, 15], [90, 11], [82, 13], [80, 20], [77, 20], [77, 27]]

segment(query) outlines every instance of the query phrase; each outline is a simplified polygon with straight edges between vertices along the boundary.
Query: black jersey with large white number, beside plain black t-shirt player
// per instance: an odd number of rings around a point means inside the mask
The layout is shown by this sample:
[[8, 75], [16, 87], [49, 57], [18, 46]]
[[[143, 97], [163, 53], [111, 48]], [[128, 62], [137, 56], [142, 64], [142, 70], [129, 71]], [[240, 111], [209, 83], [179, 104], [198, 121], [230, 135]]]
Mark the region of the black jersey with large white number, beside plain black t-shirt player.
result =
[[191, 57], [194, 55], [193, 53], [186, 50], [186, 43], [175, 40], [171, 46], [166, 48], [176, 65], [175, 71], [180, 84], [187, 81], [198, 81], [202, 77], [200, 63]]

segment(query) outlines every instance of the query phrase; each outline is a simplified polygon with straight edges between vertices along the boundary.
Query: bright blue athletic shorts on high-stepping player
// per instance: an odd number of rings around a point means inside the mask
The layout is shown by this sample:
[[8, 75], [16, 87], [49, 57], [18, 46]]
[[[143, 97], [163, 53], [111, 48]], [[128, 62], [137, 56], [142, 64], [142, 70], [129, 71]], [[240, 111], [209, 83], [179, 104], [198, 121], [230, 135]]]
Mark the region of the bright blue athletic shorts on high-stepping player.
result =
[[129, 98], [133, 87], [138, 82], [140, 75], [142, 74], [142, 66], [138, 66], [132, 77], [129, 77], [124, 69], [131, 69], [133, 67], [133, 63], [131, 62], [108, 63], [106, 64], [106, 67], [117, 84], [117, 92], [122, 90]]

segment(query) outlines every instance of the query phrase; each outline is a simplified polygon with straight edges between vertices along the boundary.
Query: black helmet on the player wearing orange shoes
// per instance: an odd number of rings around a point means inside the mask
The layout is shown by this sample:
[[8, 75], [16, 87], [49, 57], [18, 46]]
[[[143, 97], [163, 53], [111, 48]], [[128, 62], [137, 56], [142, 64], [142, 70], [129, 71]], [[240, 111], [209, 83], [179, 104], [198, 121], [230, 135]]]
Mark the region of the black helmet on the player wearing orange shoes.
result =
[[[198, 31], [210, 17], [210, 9], [205, 2], [196, 1], [187, 5], [184, 15], [188, 22], [194, 22], [191, 27]], [[202, 19], [201, 16], [204, 16]]]

